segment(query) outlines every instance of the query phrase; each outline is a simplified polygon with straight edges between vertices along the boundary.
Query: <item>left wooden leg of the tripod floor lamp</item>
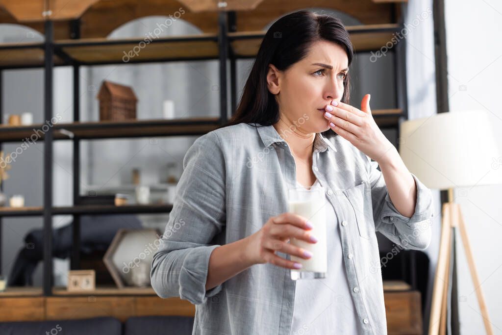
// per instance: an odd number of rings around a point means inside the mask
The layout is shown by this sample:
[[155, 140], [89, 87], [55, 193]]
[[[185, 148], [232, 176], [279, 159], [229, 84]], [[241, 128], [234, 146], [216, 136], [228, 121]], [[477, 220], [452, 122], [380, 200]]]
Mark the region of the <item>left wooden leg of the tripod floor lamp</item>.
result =
[[448, 244], [451, 238], [451, 202], [443, 204], [443, 218], [441, 226], [441, 240], [439, 242], [439, 258], [434, 276], [434, 290], [432, 292], [431, 314], [429, 319], [429, 335], [438, 335], [441, 320], [441, 305], [445, 288], [446, 263], [450, 250]]

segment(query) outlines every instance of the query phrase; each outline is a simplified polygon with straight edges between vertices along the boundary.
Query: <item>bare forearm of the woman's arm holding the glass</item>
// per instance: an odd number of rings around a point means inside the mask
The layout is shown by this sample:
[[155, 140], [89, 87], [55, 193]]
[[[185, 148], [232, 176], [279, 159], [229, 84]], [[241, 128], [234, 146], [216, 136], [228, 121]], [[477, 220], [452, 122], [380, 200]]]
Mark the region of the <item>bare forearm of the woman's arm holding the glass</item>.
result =
[[209, 257], [206, 291], [218, 286], [254, 264], [246, 257], [248, 239], [215, 248]]

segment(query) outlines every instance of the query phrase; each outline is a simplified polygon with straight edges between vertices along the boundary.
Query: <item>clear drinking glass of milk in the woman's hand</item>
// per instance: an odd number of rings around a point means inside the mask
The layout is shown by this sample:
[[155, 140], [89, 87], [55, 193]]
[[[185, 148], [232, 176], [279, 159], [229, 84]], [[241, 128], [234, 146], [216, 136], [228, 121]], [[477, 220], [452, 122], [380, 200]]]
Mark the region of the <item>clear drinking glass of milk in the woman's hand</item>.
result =
[[326, 196], [324, 188], [317, 184], [310, 189], [301, 186], [288, 190], [288, 211], [301, 215], [312, 222], [314, 228], [308, 231], [317, 238], [317, 243], [291, 238], [294, 246], [308, 250], [312, 257], [304, 259], [291, 255], [291, 260], [302, 264], [299, 270], [291, 269], [291, 279], [316, 279], [326, 278], [328, 272], [328, 253], [326, 246]]

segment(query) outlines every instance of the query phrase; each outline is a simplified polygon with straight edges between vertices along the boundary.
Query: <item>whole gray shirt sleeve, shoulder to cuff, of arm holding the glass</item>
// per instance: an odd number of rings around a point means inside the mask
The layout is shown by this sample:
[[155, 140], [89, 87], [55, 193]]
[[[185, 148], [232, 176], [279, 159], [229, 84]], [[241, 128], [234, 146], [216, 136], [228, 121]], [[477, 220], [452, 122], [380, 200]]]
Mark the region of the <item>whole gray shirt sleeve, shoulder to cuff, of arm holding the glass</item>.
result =
[[197, 138], [183, 159], [173, 209], [153, 256], [150, 278], [162, 298], [179, 296], [193, 304], [221, 290], [205, 289], [211, 244], [225, 217], [225, 163], [213, 132]]

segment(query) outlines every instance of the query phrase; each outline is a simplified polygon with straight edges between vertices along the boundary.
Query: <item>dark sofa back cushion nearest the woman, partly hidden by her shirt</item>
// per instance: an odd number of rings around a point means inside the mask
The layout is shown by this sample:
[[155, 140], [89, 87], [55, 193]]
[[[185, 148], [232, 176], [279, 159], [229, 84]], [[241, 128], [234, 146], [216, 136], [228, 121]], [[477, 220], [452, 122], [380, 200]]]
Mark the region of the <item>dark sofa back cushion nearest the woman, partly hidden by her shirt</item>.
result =
[[124, 335], [191, 335], [192, 316], [135, 316], [124, 323]]

